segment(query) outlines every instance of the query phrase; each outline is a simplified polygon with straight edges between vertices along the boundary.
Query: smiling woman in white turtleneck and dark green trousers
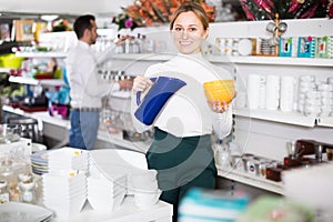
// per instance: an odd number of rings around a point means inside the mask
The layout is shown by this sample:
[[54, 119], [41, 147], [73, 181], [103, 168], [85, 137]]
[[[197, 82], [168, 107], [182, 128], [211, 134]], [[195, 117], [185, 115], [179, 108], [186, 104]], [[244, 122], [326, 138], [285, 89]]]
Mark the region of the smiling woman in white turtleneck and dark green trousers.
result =
[[[224, 101], [209, 104], [202, 83], [232, 77], [201, 54], [209, 34], [209, 20], [199, 4], [180, 6], [172, 17], [170, 31], [179, 53], [164, 63], [149, 67], [144, 77], [138, 75], [133, 92], [147, 91], [153, 84], [150, 77], [171, 73], [186, 85], [171, 97], [152, 125], [140, 124], [135, 118], [133, 121], [138, 131], [154, 127], [147, 161], [150, 169], [158, 171], [159, 188], [163, 191], [160, 199], [173, 204], [176, 216], [178, 203], [189, 189], [214, 189], [216, 168], [211, 134], [214, 131], [223, 139], [232, 128], [231, 107]], [[132, 111], [137, 108], [133, 101]]]

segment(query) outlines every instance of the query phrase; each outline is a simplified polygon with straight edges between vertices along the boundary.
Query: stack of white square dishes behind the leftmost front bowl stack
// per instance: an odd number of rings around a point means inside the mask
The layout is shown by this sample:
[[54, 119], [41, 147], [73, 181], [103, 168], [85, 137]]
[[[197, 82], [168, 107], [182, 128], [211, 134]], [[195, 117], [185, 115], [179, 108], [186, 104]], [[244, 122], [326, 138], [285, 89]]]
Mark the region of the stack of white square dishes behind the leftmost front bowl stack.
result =
[[74, 148], [61, 148], [49, 153], [49, 170], [89, 170], [89, 155], [88, 151]]

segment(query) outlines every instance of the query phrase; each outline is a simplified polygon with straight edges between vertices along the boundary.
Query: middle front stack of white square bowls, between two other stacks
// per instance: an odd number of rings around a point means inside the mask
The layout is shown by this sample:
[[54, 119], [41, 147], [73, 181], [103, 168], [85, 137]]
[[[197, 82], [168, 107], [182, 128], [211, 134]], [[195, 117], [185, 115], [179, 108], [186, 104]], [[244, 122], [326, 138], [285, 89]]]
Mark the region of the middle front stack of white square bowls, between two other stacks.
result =
[[121, 205], [127, 193], [127, 175], [88, 178], [88, 201], [94, 210], [112, 211]]

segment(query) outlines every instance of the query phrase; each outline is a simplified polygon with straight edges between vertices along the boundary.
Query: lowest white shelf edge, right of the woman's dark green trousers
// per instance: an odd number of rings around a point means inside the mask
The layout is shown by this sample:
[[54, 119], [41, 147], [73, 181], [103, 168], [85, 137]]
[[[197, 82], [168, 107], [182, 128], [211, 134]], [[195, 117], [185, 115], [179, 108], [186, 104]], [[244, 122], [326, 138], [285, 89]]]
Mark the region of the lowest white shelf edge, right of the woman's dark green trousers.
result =
[[229, 180], [238, 181], [248, 185], [252, 185], [255, 188], [260, 188], [266, 191], [271, 191], [279, 194], [284, 194], [283, 183], [282, 182], [274, 182], [268, 180], [265, 178], [260, 178], [254, 174], [241, 172], [239, 170], [229, 170], [224, 171], [221, 167], [218, 168], [218, 174], [222, 178], [226, 178]]

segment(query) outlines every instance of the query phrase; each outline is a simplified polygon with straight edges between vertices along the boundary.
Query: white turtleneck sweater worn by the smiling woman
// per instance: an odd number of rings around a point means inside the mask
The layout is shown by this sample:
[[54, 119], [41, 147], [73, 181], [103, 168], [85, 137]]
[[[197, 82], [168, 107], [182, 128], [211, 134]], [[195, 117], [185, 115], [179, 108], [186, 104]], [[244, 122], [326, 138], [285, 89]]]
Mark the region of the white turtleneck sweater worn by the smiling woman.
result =
[[[208, 105], [204, 95], [203, 82], [216, 79], [232, 79], [231, 74], [218, 68], [201, 56], [178, 54], [164, 63], [151, 65], [145, 77], [168, 75], [175, 77], [186, 85], [174, 93], [155, 119], [153, 125], [175, 137], [195, 137], [211, 134], [214, 130], [220, 139], [226, 137], [232, 128], [232, 107], [224, 113], [215, 113]], [[132, 97], [135, 99], [135, 95]], [[133, 99], [133, 100], [134, 100]], [[132, 100], [132, 113], [138, 105]], [[133, 115], [138, 131], [148, 130]], [[151, 125], [152, 127], [152, 125]]]

